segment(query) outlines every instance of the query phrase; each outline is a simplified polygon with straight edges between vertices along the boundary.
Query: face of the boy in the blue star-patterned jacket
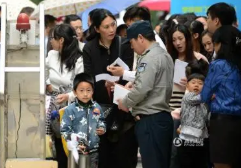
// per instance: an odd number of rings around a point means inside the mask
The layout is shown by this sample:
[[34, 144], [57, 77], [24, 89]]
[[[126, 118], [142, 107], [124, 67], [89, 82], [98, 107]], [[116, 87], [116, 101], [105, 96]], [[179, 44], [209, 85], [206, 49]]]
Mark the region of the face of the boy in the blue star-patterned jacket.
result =
[[92, 99], [93, 88], [88, 82], [80, 82], [77, 89], [74, 91], [74, 94], [78, 100], [83, 103], [88, 103]]

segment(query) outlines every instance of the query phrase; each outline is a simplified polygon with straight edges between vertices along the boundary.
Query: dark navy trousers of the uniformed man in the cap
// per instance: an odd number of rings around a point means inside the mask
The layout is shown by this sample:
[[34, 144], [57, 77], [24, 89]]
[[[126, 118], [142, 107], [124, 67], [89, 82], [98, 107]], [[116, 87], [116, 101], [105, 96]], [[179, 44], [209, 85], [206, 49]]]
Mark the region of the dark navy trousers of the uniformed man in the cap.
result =
[[171, 114], [160, 112], [141, 117], [135, 133], [143, 168], [169, 168], [173, 137]]

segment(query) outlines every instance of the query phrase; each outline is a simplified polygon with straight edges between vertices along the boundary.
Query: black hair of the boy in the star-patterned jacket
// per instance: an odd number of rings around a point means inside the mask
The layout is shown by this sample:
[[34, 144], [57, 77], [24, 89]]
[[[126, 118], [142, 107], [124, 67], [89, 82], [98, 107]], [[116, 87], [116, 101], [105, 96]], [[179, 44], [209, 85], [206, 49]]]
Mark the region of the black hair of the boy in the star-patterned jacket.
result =
[[87, 74], [87, 73], [80, 73], [77, 74], [74, 78], [74, 82], [73, 82], [73, 89], [74, 91], [76, 91], [78, 85], [81, 82], [87, 82], [92, 86], [92, 89], [94, 90], [94, 79], [91, 75]]

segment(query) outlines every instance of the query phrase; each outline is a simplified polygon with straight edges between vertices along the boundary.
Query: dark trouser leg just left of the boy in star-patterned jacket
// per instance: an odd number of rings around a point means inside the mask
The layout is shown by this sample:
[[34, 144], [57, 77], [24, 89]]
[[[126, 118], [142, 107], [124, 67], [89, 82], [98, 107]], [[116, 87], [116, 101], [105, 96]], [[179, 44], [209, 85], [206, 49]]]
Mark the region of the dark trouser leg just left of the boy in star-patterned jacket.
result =
[[56, 160], [58, 162], [58, 168], [67, 168], [68, 159], [64, 152], [61, 138], [55, 138], [56, 148]]

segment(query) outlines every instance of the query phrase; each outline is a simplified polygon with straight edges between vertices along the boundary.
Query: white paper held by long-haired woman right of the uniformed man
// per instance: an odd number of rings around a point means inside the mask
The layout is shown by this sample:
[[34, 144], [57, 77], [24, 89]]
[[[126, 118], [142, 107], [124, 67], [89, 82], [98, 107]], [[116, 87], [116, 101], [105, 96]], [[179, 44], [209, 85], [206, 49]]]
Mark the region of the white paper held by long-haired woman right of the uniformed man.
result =
[[185, 71], [186, 71], [187, 64], [188, 64], [187, 62], [176, 59], [175, 68], [174, 68], [174, 78], [173, 78], [174, 83], [180, 85], [181, 79], [186, 78]]

